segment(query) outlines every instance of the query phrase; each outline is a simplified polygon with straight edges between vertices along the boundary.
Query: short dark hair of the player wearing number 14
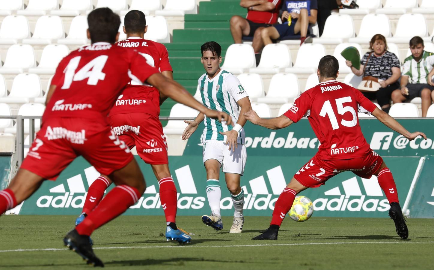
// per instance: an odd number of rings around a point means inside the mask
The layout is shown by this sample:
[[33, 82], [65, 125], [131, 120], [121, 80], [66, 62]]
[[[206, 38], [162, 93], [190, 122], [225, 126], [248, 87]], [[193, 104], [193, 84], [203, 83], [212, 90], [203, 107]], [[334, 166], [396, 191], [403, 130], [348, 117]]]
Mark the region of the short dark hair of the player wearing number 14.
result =
[[87, 16], [87, 23], [92, 43], [100, 41], [116, 42], [116, 34], [121, 25], [121, 19], [118, 14], [113, 13], [108, 7], [92, 10]]

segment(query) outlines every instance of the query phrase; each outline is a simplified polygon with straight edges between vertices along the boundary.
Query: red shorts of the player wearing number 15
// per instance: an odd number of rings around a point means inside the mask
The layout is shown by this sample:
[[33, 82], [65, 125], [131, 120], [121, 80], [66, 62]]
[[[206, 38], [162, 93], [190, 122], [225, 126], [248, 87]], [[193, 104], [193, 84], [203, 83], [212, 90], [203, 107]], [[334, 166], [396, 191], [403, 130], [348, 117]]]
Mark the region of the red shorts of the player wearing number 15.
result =
[[294, 178], [305, 187], [317, 188], [343, 171], [352, 171], [361, 178], [371, 178], [381, 163], [383, 159], [374, 151], [362, 158], [342, 160], [321, 160], [315, 155], [296, 172]]

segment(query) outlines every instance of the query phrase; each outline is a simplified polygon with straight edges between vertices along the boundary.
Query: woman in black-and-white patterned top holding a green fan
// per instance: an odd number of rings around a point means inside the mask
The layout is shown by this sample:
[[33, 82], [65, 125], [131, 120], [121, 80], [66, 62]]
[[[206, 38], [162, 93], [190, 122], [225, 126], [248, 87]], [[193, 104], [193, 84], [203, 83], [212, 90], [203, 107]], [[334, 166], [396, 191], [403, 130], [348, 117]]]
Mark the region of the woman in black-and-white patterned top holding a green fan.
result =
[[391, 94], [399, 88], [401, 65], [395, 53], [387, 50], [386, 38], [383, 35], [373, 36], [369, 49], [371, 52], [362, 57], [360, 69], [355, 69], [351, 61], [347, 60], [346, 64], [356, 76], [372, 76], [378, 79], [381, 88], [376, 92], [363, 92], [363, 95], [370, 100], [376, 99], [381, 109], [389, 112]]

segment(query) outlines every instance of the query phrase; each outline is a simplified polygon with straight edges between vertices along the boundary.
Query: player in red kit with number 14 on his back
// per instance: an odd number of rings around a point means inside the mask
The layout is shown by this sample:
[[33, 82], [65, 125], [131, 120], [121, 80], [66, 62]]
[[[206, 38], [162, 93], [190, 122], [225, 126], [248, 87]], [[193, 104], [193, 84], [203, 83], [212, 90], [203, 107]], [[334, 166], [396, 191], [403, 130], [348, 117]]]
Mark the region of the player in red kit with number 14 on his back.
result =
[[166, 79], [138, 52], [115, 46], [120, 18], [109, 8], [88, 15], [83, 46], [62, 59], [47, 94], [42, 126], [20, 170], [0, 191], [0, 214], [29, 198], [43, 180], [55, 180], [77, 156], [116, 184], [94, 211], [63, 242], [88, 263], [103, 266], [93, 253], [90, 234], [135, 204], [145, 191], [145, 179], [125, 142], [110, 128], [107, 115], [132, 79], [155, 86], [172, 99], [209, 117], [231, 122], [229, 115], [197, 102], [178, 83]]

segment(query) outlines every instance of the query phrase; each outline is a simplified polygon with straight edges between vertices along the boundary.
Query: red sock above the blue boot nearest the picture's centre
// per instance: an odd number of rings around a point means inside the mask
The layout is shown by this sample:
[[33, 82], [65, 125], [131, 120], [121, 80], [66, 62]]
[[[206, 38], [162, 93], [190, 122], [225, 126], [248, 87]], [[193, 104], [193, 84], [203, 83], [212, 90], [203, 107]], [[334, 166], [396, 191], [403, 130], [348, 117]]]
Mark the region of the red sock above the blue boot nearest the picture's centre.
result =
[[163, 207], [166, 221], [175, 223], [176, 210], [178, 209], [175, 183], [171, 177], [165, 177], [161, 178], [158, 184], [160, 185], [161, 207]]

